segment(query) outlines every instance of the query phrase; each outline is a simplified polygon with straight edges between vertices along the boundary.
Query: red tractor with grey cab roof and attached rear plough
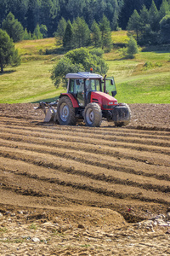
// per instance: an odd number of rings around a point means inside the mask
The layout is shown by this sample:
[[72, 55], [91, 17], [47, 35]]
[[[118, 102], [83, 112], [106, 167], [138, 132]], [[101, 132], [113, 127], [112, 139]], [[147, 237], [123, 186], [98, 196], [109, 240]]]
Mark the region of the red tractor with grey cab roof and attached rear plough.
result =
[[[38, 108], [48, 107], [44, 121], [58, 120], [60, 125], [76, 125], [84, 119], [88, 126], [97, 127], [102, 119], [113, 121], [116, 126], [127, 125], [131, 119], [130, 108], [116, 101], [113, 78], [106, 79], [96, 73], [68, 73], [67, 93], [62, 93], [54, 103], [40, 102]], [[109, 95], [106, 87], [111, 89]]]

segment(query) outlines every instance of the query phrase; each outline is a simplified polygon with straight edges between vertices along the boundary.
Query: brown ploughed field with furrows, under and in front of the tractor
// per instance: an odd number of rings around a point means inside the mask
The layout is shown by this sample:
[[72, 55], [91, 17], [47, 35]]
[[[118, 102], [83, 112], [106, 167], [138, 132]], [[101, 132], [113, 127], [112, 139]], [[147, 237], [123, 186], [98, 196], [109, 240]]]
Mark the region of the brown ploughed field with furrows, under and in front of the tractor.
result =
[[[156, 231], [154, 240], [146, 230], [137, 232], [135, 224], [166, 215], [170, 207], [170, 104], [130, 108], [133, 119], [127, 127], [103, 121], [100, 128], [89, 128], [45, 124], [31, 104], [0, 105], [0, 235], [11, 239], [0, 239], [3, 255], [25, 255], [26, 250], [34, 255], [30, 247], [35, 255], [140, 255], [142, 250], [151, 255], [155, 246], [145, 247], [147, 241], [161, 241], [155, 255], [169, 255], [168, 225]], [[45, 223], [67, 228], [46, 229], [47, 244], [34, 247], [25, 239], [14, 247], [9, 227], [18, 237], [19, 222], [25, 230], [32, 223], [41, 229]], [[52, 237], [54, 230], [65, 239]], [[82, 235], [85, 230], [91, 235]], [[108, 236], [102, 236], [104, 231]], [[135, 246], [127, 247], [132, 238]]]

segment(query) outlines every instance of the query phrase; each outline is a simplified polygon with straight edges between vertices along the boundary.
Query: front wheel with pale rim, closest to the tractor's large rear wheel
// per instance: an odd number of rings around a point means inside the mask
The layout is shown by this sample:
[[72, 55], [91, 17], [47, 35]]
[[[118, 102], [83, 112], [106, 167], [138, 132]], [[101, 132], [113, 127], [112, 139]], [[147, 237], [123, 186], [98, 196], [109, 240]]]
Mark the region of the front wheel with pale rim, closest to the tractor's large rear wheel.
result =
[[102, 121], [101, 108], [97, 103], [89, 103], [84, 110], [84, 121], [87, 126], [99, 127]]

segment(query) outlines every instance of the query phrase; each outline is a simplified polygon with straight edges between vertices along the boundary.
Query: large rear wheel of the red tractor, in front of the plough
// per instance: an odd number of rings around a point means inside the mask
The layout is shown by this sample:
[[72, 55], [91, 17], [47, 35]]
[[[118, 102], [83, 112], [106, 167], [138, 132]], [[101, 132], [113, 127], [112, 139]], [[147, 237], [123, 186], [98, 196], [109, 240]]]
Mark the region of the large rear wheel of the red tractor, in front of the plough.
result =
[[59, 125], [76, 125], [77, 119], [75, 108], [72, 106], [71, 99], [68, 96], [63, 96], [57, 106], [57, 119]]

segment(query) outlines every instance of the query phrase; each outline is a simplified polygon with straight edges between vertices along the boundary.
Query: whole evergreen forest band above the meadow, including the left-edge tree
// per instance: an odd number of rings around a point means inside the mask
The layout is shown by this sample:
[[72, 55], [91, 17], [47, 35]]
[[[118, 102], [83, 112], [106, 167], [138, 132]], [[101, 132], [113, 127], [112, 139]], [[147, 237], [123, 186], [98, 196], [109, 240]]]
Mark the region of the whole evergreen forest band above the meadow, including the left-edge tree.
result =
[[[138, 52], [134, 38], [140, 45], [170, 44], [170, 0], [146, 3], [144, 0], [0, 0], [0, 70], [3, 73], [8, 64], [20, 64], [13, 42], [46, 38], [51, 33], [65, 50], [93, 44], [94, 48], [110, 51], [111, 30], [119, 29], [123, 14], [123, 19], [129, 16], [125, 24], [129, 36], [133, 36], [127, 56], [133, 57]], [[129, 12], [125, 9], [127, 4]], [[67, 9], [70, 15], [65, 18]], [[131, 15], [130, 10], [133, 10]], [[125, 24], [122, 22], [122, 26]]]

